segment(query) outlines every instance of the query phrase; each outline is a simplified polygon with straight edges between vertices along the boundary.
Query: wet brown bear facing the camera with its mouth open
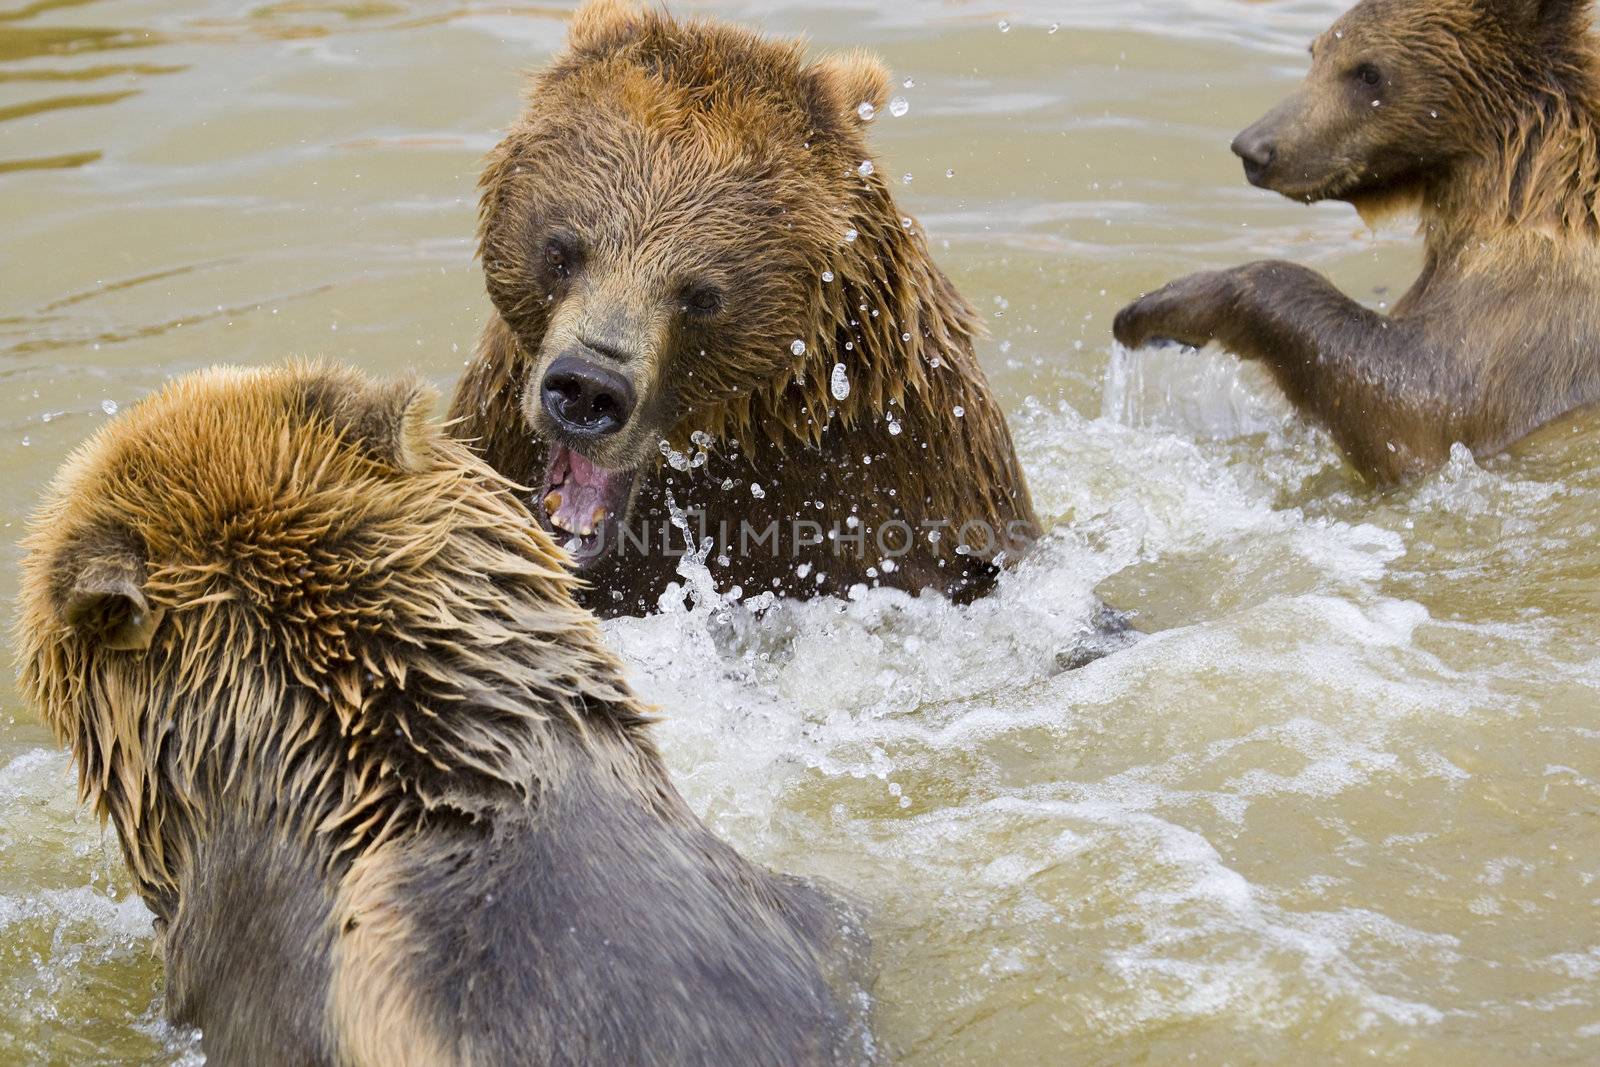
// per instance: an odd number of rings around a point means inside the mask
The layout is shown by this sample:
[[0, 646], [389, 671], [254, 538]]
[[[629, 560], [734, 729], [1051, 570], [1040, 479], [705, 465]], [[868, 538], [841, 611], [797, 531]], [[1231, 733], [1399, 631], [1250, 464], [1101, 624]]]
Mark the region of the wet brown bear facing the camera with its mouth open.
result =
[[978, 320], [869, 163], [886, 86], [867, 56], [592, 0], [494, 150], [496, 314], [451, 413], [595, 608], [654, 608], [674, 515], [746, 595], [970, 597], [1035, 536]]

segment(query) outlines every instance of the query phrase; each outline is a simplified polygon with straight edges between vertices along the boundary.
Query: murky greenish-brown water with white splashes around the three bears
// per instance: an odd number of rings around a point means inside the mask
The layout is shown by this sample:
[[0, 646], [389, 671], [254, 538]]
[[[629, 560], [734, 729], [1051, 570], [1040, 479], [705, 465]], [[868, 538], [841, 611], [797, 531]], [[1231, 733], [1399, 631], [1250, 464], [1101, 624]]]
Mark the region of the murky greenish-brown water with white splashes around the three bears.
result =
[[[450, 386], [486, 310], [477, 160], [566, 5], [6, 2], [10, 603], [43, 482], [170, 374], [325, 354]], [[899, 1062], [1600, 1061], [1600, 418], [1374, 494], [1230, 358], [1110, 349], [1195, 267], [1410, 283], [1405, 232], [1227, 154], [1338, 6], [694, 8], [912, 80], [878, 162], [989, 317], [1059, 523], [965, 609], [813, 603], [739, 651], [704, 609], [608, 627], [694, 806], [869, 904]], [[1059, 675], [1094, 587], [1155, 633]], [[6, 683], [0, 1064], [197, 1062], [160, 1017], [115, 841]]]

